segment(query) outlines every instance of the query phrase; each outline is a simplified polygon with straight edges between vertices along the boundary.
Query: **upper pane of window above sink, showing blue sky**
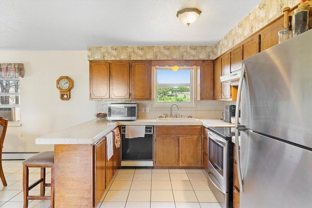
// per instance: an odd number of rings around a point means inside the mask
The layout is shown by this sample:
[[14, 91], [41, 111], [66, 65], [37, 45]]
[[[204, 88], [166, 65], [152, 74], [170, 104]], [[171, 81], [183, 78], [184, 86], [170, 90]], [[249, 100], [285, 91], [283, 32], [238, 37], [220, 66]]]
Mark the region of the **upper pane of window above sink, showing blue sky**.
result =
[[176, 72], [172, 70], [157, 70], [157, 84], [179, 84], [179, 83], [191, 83], [191, 71], [190, 70], [178, 70]]

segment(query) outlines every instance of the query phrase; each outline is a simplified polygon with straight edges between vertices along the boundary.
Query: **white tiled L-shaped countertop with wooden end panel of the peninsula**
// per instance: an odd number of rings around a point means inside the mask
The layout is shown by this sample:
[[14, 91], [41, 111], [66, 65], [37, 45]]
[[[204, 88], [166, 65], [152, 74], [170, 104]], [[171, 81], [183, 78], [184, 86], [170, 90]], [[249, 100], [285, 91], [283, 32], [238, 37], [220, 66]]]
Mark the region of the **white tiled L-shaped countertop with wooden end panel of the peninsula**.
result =
[[[55, 150], [55, 207], [93, 208], [95, 190], [95, 144], [119, 125], [196, 125], [234, 126], [220, 119], [197, 121], [156, 121], [156, 118], [136, 121], [91, 120], [77, 126], [47, 134], [36, 139], [36, 144], [54, 144]], [[68, 202], [71, 202], [70, 204]]]

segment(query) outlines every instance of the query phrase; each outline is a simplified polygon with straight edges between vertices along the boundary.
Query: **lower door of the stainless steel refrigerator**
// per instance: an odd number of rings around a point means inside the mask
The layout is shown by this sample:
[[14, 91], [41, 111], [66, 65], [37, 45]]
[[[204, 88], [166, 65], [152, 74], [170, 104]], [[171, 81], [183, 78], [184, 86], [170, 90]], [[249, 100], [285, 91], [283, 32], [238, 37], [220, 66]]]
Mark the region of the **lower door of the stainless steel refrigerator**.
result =
[[240, 138], [240, 208], [311, 207], [312, 151], [250, 131]]

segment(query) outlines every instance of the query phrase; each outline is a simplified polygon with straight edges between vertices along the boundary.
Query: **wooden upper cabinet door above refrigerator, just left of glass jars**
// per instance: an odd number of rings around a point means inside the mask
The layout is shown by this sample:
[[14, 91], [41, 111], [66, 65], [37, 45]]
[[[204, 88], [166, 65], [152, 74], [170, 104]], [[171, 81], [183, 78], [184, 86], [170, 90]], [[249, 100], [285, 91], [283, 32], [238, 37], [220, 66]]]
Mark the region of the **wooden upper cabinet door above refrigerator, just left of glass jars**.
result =
[[263, 31], [260, 32], [261, 51], [264, 51], [278, 44], [278, 31], [284, 29], [283, 23], [284, 18], [283, 17], [278, 18], [275, 21], [273, 21], [268, 27], [266, 27]]

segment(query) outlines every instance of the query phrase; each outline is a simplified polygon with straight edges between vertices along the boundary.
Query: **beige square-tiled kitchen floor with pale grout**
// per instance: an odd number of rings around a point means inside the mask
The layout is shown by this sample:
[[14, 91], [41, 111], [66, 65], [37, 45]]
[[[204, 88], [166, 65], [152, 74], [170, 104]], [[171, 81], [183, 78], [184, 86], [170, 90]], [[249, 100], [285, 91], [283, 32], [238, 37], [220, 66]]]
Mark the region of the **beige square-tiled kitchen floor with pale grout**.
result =
[[[22, 208], [21, 161], [3, 160], [2, 165], [8, 186], [0, 183], [0, 208]], [[36, 180], [39, 169], [31, 171], [30, 180]], [[33, 194], [38, 190], [32, 190]], [[50, 203], [30, 201], [29, 208], [50, 208]], [[119, 169], [98, 208], [221, 207], [201, 169]]]

